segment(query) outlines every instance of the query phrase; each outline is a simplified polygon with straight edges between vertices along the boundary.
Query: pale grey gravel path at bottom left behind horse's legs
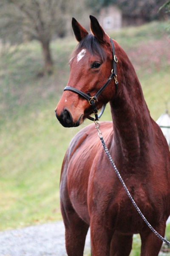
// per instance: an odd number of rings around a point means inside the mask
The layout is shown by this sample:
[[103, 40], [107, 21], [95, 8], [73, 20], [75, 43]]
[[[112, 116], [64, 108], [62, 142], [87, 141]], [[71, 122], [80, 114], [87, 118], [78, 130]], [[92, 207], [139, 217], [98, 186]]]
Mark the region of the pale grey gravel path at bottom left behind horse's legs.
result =
[[[0, 232], [0, 256], [66, 256], [63, 222]], [[90, 235], [85, 251], [90, 251]]]

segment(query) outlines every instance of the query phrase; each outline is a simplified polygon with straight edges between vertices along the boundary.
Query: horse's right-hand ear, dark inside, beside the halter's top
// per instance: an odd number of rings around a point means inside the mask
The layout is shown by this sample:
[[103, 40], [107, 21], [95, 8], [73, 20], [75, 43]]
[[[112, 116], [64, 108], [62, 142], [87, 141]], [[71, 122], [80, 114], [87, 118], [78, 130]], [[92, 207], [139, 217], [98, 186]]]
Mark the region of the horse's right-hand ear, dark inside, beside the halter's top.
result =
[[91, 19], [91, 32], [94, 34], [95, 38], [97, 38], [101, 43], [104, 43], [106, 41], [109, 42], [109, 36], [102, 29], [98, 20], [92, 15], [90, 15], [90, 19]]

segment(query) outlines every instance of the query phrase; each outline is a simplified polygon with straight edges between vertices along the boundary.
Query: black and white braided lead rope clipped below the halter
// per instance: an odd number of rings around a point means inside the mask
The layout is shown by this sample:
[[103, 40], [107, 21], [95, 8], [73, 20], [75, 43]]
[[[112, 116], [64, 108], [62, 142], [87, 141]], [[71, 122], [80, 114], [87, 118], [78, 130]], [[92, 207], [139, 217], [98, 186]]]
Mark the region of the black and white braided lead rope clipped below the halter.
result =
[[124, 181], [123, 181], [123, 179], [122, 179], [122, 177], [121, 177], [121, 175], [120, 175], [118, 169], [116, 168], [115, 163], [113, 162], [113, 159], [111, 158], [111, 155], [110, 155], [110, 153], [109, 153], [109, 151], [108, 151], [108, 148], [106, 147], [106, 144], [105, 144], [105, 141], [104, 141], [104, 139], [103, 139], [102, 133], [101, 133], [101, 131], [99, 130], [99, 128], [100, 128], [100, 123], [99, 123], [98, 121], [96, 121], [96, 122], [95, 122], [95, 125], [96, 125], [96, 129], [97, 129], [97, 131], [98, 131], [99, 138], [100, 138], [100, 140], [101, 140], [101, 142], [102, 142], [103, 148], [104, 148], [104, 150], [105, 150], [105, 153], [106, 153], [108, 159], [110, 160], [110, 162], [111, 162], [111, 164], [112, 164], [112, 166], [113, 166], [113, 169], [114, 169], [115, 172], [116, 172], [116, 175], [119, 177], [119, 180], [121, 181], [121, 183], [122, 183], [122, 185], [123, 185], [123, 187], [124, 187], [124, 189], [125, 189], [127, 195], [129, 196], [130, 200], [132, 201], [134, 207], [135, 207], [136, 210], [139, 212], [139, 214], [141, 215], [142, 219], [146, 222], [147, 226], [153, 231], [153, 233], [155, 233], [155, 235], [158, 236], [159, 239], [161, 239], [162, 241], [164, 241], [166, 244], [170, 245], [170, 242], [167, 241], [166, 239], [164, 239], [161, 235], [159, 235], [159, 233], [156, 232], [156, 230], [154, 230], [154, 228], [149, 224], [149, 222], [148, 222], [147, 219], [144, 217], [144, 215], [142, 214], [141, 210], [139, 209], [139, 207], [137, 206], [137, 204], [136, 204], [135, 201], [133, 200], [133, 198], [132, 198], [132, 196], [130, 195], [130, 192], [129, 192], [129, 190], [127, 189], [127, 186], [125, 185], [125, 183], [124, 183]]

